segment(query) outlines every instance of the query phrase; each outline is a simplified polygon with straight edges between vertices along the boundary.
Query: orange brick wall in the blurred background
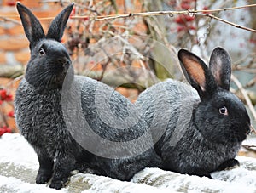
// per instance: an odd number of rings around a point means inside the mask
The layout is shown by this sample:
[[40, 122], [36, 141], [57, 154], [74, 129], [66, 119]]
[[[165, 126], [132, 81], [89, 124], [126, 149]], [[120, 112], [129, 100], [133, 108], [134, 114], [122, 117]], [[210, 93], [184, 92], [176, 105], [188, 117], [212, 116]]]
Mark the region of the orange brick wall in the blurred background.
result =
[[[46, 17], [55, 17], [55, 15], [58, 14], [62, 9], [59, 3], [38, 2], [39, 0], [20, 0], [20, 3], [31, 9], [32, 13], [35, 14], [39, 20]], [[141, 5], [137, 4], [138, 1], [135, 2], [135, 4], [131, 3], [132, 9], [127, 9], [127, 12], [138, 11]], [[121, 9], [124, 9], [123, 3], [123, 0], [117, 1], [117, 6], [120, 9], [120, 13], [122, 13]], [[29, 43], [26, 39], [23, 27], [20, 24], [20, 17], [15, 5], [15, 0], [0, 0], [0, 72], [3, 71], [3, 68], [1, 67], [6, 65], [26, 66], [28, 60], [30, 59], [30, 50], [28, 48]], [[5, 18], [7, 20], [5, 20]], [[50, 21], [51, 20], [40, 20], [44, 31], [48, 30]], [[141, 27], [142, 26], [138, 26], [138, 30], [141, 29]], [[11, 78], [0, 77], [0, 89], [8, 89], [9, 94], [13, 95], [14, 97], [15, 89], [17, 88], [18, 84], [19, 81], [14, 81]], [[125, 95], [125, 97], [131, 99], [131, 101], [135, 101], [135, 99], [137, 99], [137, 89], [117, 88], [117, 91]], [[2, 113], [5, 115], [8, 115], [9, 112], [13, 111], [14, 109], [11, 102], [4, 103], [3, 105], [0, 105], [0, 107], [0, 114], [2, 111]], [[6, 119], [9, 128], [12, 128], [15, 132], [18, 132], [15, 127], [14, 117], [7, 116]], [[4, 125], [5, 123], [3, 123], [3, 120], [1, 120], [0, 117], [0, 128]]]

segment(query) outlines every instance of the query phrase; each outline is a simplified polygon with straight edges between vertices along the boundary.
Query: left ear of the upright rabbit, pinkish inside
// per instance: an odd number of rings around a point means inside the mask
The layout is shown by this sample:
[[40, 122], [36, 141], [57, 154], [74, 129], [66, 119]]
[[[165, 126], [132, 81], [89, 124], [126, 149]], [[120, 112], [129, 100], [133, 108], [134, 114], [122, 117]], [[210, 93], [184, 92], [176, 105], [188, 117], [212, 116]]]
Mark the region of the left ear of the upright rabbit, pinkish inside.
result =
[[24, 5], [17, 3], [17, 10], [20, 14], [20, 20], [24, 28], [26, 37], [30, 45], [35, 44], [38, 40], [44, 38], [44, 30], [40, 22], [32, 12]]

